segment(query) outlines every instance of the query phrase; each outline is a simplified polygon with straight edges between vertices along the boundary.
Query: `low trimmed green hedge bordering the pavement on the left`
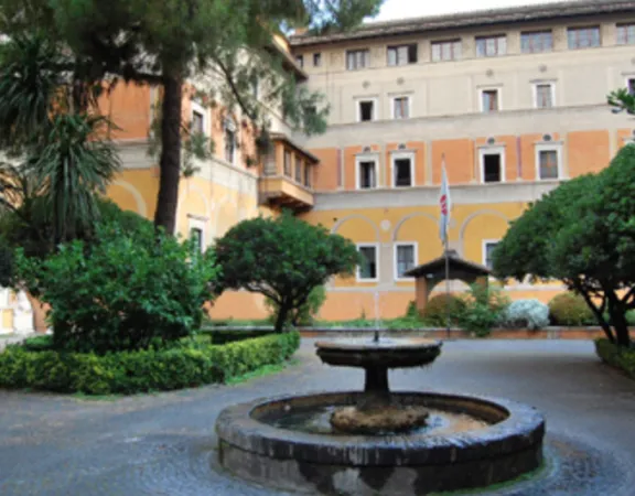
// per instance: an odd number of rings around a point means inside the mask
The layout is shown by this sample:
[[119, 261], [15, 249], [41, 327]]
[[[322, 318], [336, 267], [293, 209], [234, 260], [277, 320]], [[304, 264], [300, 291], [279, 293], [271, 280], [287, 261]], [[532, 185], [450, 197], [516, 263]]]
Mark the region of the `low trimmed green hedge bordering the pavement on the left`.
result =
[[190, 342], [160, 351], [83, 353], [30, 351], [0, 354], [0, 387], [85, 395], [131, 395], [224, 382], [266, 365], [281, 364], [300, 345], [297, 332], [223, 346]]

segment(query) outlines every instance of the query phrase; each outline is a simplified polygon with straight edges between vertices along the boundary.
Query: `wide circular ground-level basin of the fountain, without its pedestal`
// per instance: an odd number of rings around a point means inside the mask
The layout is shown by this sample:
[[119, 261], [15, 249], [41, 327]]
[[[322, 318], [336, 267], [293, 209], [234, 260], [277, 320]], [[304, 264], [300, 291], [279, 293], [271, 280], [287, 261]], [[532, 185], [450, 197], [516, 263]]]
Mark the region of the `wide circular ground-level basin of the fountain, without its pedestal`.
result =
[[216, 422], [220, 464], [281, 490], [415, 496], [484, 487], [538, 468], [545, 420], [516, 402], [431, 392], [391, 400], [430, 410], [408, 434], [348, 435], [331, 430], [331, 409], [363, 392], [288, 396], [236, 405]]

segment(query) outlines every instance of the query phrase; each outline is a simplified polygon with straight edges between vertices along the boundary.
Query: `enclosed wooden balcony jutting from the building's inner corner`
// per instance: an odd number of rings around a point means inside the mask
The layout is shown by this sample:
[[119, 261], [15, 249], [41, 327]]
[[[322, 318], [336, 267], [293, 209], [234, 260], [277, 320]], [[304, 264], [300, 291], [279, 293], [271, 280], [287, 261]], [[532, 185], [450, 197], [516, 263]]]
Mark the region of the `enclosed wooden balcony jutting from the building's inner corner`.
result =
[[313, 207], [313, 173], [319, 160], [284, 134], [273, 134], [262, 166], [258, 193], [261, 205], [305, 211]]

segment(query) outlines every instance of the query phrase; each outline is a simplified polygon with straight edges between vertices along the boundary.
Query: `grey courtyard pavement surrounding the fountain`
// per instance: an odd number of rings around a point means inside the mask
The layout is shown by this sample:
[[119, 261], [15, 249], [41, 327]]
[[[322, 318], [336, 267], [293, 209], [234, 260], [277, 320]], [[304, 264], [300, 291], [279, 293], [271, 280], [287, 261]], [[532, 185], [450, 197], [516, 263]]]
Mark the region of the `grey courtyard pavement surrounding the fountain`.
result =
[[[226, 406], [358, 389], [362, 373], [299, 364], [237, 386], [116, 400], [0, 391], [0, 495], [266, 496], [218, 470], [214, 422]], [[603, 366], [586, 342], [450, 342], [427, 369], [391, 373], [394, 389], [506, 397], [547, 417], [549, 464], [509, 496], [635, 495], [635, 381]]]

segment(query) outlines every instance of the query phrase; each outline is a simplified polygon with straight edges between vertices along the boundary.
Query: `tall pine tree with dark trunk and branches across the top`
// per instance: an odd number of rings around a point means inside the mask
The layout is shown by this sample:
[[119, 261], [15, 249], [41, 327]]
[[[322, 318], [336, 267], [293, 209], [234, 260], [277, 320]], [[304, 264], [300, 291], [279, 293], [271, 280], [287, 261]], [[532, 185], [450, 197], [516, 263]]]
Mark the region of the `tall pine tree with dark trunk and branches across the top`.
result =
[[[182, 103], [193, 77], [211, 87], [228, 115], [239, 109], [267, 143], [269, 108], [282, 107], [293, 127], [324, 129], [323, 98], [297, 90], [288, 60], [272, 36], [304, 23], [316, 31], [352, 29], [383, 0], [7, 0], [3, 32], [46, 28], [55, 40], [106, 74], [162, 88], [160, 186], [154, 222], [175, 226], [182, 159]], [[258, 84], [263, 94], [255, 95]]]

